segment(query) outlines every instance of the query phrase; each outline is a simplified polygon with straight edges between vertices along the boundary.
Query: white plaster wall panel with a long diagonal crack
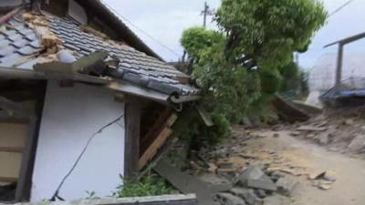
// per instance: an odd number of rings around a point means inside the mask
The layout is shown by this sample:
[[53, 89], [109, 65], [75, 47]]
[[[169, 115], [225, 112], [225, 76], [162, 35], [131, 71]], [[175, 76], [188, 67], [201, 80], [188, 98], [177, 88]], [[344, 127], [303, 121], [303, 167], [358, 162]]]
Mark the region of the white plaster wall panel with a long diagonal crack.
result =
[[[31, 200], [50, 199], [90, 136], [120, 117], [124, 104], [103, 87], [75, 84], [58, 87], [49, 81], [36, 150]], [[110, 196], [120, 185], [124, 169], [124, 118], [94, 138], [59, 196], [65, 200], [87, 197], [95, 191]]]

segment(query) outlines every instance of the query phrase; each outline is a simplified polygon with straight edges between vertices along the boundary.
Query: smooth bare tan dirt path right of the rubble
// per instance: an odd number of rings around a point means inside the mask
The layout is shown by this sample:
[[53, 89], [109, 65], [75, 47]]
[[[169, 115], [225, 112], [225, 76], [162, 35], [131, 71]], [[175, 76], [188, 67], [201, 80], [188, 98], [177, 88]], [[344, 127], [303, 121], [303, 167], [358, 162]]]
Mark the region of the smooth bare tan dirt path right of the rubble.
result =
[[256, 138], [247, 142], [247, 148], [267, 149], [291, 161], [306, 171], [328, 171], [336, 182], [330, 190], [319, 190], [312, 186], [308, 177], [298, 177], [300, 184], [294, 191], [293, 205], [363, 205], [365, 204], [365, 161], [329, 152], [302, 139], [293, 138], [287, 132], [260, 132], [266, 138]]

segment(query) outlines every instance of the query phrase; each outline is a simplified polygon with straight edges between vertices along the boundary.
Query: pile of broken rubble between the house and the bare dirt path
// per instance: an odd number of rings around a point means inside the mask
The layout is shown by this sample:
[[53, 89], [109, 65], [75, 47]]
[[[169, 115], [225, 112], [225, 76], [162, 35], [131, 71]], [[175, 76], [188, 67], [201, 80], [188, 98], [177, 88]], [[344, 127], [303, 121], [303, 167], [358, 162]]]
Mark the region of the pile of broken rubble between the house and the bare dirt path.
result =
[[[297, 125], [292, 134], [307, 133], [304, 126]], [[209, 184], [215, 200], [222, 205], [291, 204], [293, 191], [303, 182], [318, 190], [330, 190], [336, 181], [331, 173], [307, 168], [305, 163], [263, 146], [252, 146], [251, 142], [260, 141], [256, 139], [279, 138], [279, 133], [260, 136], [242, 127], [235, 128], [234, 137], [220, 147], [195, 153], [188, 172]]]

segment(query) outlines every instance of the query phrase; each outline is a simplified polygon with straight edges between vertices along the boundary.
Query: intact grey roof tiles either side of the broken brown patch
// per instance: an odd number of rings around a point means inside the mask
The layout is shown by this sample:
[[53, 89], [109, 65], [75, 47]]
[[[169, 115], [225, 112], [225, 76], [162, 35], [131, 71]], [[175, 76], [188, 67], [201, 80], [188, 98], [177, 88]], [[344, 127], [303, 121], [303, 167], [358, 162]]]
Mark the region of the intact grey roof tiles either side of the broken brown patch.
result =
[[[50, 30], [62, 40], [63, 46], [74, 51], [77, 58], [106, 51], [120, 60], [118, 69], [124, 81], [169, 95], [198, 94], [197, 88], [179, 82], [179, 78], [187, 76], [176, 68], [130, 46], [86, 33], [78, 23], [67, 17], [46, 16]], [[0, 67], [32, 69], [33, 65], [42, 62], [41, 57], [32, 57], [40, 49], [35, 31], [26, 25], [20, 15], [0, 26]]]

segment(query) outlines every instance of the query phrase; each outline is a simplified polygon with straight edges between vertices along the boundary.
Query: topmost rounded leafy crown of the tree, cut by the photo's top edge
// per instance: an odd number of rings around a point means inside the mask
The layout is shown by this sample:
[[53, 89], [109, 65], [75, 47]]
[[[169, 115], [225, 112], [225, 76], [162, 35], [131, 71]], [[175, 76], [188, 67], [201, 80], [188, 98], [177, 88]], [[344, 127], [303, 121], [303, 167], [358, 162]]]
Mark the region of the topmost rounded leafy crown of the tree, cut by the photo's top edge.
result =
[[308, 48], [327, 16], [318, 0], [223, 0], [215, 19], [233, 55], [278, 67], [290, 62], [293, 51]]

